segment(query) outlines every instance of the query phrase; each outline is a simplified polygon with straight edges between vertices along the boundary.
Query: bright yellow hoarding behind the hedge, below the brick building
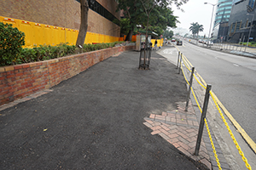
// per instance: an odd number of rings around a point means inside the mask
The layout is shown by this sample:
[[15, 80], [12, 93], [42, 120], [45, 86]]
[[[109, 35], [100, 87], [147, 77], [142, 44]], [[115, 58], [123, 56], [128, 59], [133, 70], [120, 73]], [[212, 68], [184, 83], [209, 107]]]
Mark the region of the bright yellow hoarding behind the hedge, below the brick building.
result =
[[[19, 31], [25, 33], [24, 48], [32, 48], [38, 45], [55, 46], [61, 42], [68, 42], [69, 45], [75, 45], [79, 35], [78, 30], [69, 28], [49, 26], [26, 20], [16, 20], [0, 16], [0, 22], [12, 24]], [[100, 42], [118, 42], [119, 37], [113, 37], [94, 32], [87, 32], [84, 43], [100, 43]]]

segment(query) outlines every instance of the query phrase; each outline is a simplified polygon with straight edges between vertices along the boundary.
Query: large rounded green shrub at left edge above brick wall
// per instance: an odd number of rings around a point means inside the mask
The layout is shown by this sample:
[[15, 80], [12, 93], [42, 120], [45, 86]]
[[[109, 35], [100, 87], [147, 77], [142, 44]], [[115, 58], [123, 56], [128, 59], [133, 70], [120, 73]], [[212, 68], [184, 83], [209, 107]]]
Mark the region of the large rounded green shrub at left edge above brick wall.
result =
[[17, 62], [21, 47], [25, 45], [24, 39], [24, 32], [11, 24], [0, 22], [0, 65], [14, 65]]

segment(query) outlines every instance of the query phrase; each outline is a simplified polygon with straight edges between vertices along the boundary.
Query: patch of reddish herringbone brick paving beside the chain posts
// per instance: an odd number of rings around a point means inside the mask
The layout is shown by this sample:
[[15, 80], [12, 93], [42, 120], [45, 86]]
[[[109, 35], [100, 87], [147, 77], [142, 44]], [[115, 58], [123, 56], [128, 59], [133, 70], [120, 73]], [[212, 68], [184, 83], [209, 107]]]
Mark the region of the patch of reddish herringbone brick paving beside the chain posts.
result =
[[177, 105], [175, 111], [166, 111], [161, 115], [151, 114], [149, 117], [145, 117], [146, 122], [143, 124], [153, 130], [152, 135], [159, 134], [184, 155], [195, 161], [201, 161], [209, 169], [212, 169], [210, 156], [203, 139], [199, 156], [194, 155], [199, 124], [191, 103], [189, 103], [188, 111], [184, 110], [184, 107]]

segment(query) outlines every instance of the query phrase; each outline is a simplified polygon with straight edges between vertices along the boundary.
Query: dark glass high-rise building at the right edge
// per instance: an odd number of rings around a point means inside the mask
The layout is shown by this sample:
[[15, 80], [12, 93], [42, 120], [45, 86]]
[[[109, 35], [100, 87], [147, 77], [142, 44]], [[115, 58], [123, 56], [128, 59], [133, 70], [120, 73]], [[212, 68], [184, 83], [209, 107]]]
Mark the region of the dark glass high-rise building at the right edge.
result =
[[[255, 0], [236, 0], [229, 20], [229, 42], [255, 41], [256, 38]], [[252, 29], [251, 29], [252, 26]], [[250, 34], [250, 37], [249, 37]]]

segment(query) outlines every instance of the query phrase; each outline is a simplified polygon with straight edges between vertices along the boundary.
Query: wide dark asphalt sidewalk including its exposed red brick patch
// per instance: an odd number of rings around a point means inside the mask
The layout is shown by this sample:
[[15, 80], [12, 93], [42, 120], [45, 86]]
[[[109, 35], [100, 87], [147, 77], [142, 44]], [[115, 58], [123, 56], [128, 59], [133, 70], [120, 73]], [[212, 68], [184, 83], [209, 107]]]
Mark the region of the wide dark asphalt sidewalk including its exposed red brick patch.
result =
[[[207, 169], [186, 83], [160, 54], [124, 52], [0, 107], [0, 169]], [[44, 95], [43, 95], [44, 94]], [[204, 163], [204, 164], [203, 164]]]

